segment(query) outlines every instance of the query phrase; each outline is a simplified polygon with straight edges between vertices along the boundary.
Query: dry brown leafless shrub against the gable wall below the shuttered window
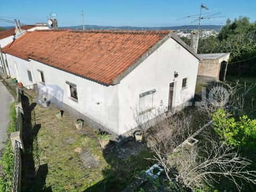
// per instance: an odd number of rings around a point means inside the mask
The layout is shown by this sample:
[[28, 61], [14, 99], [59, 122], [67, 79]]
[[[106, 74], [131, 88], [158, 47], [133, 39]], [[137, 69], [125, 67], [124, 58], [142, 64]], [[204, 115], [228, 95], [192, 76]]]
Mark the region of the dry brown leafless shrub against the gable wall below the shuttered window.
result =
[[135, 111], [134, 120], [145, 133], [144, 140], [154, 152], [154, 159], [163, 166], [166, 176], [169, 177], [171, 167], [167, 163], [167, 157], [193, 133], [191, 115], [182, 111], [170, 115], [161, 103], [158, 108], [147, 113], [141, 114], [138, 110]]

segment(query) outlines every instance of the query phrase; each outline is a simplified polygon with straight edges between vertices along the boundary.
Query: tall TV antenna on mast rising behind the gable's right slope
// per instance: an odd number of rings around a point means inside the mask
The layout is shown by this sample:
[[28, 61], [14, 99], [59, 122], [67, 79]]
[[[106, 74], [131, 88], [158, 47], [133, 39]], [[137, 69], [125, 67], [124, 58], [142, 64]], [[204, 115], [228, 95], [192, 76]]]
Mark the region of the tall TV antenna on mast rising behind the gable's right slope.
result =
[[[198, 21], [198, 28], [197, 28], [197, 33], [196, 33], [196, 41], [195, 43], [192, 45], [194, 51], [197, 53], [197, 47], [198, 47], [198, 41], [199, 41], [199, 30], [200, 30], [200, 25], [201, 25], [201, 20], [203, 19], [213, 19], [213, 18], [221, 18], [221, 17], [225, 17], [225, 16], [219, 16], [221, 14], [221, 12], [218, 12], [218, 13], [213, 13], [213, 14], [210, 14], [210, 13], [202, 13], [202, 10], [205, 9], [205, 10], [209, 10], [209, 8], [204, 5], [203, 3], [201, 3], [201, 6], [200, 6], [200, 13], [199, 14], [194, 14], [194, 15], [188, 15], [187, 17], [183, 17], [183, 18], [180, 18], [180, 19], [177, 19], [177, 20], [181, 20], [181, 19], [185, 19], [185, 18], [196, 18], [194, 19], [193, 21], [191, 21], [190, 23], [194, 23], [194, 22], [197, 22]], [[199, 17], [198, 17], [199, 15]], [[202, 16], [203, 15], [203, 16]]]

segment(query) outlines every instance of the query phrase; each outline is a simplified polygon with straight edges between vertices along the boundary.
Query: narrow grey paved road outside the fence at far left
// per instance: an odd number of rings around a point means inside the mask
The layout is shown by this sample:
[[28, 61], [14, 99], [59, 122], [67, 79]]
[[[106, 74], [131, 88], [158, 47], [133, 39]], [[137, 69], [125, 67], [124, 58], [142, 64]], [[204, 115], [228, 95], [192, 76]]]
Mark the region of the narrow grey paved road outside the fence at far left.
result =
[[0, 157], [7, 140], [7, 126], [9, 124], [9, 106], [14, 101], [12, 95], [0, 80]]

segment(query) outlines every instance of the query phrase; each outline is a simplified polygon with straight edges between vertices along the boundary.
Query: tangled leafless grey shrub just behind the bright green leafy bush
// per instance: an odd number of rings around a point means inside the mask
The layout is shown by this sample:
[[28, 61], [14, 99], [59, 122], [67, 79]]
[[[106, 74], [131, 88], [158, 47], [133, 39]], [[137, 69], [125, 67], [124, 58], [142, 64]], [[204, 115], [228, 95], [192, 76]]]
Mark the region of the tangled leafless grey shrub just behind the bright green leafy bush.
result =
[[212, 114], [218, 109], [227, 109], [233, 115], [251, 114], [255, 111], [253, 98], [246, 99], [246, 95], [255, 87], [255, 84], [250, 86], [239, 85], [237, 81], [234, 85], [226, 82], [212, 83], [209, 86], [209, 91], [206, 89], [202, 93], [202, 101], [197, 102], [198, 111], [206, 116], [206, 121], [210, 121]]

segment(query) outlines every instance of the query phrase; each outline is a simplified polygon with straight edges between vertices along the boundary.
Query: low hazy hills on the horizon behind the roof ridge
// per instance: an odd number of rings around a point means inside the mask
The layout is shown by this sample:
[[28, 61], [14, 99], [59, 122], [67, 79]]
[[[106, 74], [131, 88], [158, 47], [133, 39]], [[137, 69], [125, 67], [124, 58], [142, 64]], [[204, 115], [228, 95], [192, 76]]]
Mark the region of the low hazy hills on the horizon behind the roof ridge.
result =
[[[85, 25], [85, 29], [126, 29], [126, 30], [193, 30], [197, 29], [197, 25], [185, 25], [185, 26], [173, 26], [173, 27], [131, 27], [131, 26], [97, 26], [97, 25]], [[60, 27], [60, 28], [71, 28], [71, 29], [83, 29], [83, 26], [69, 26], [69, 27]], [[201, 25], [200, 29], [215, 29], [220, 30], [221, 26], [219, 25]]]

